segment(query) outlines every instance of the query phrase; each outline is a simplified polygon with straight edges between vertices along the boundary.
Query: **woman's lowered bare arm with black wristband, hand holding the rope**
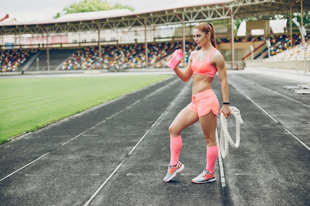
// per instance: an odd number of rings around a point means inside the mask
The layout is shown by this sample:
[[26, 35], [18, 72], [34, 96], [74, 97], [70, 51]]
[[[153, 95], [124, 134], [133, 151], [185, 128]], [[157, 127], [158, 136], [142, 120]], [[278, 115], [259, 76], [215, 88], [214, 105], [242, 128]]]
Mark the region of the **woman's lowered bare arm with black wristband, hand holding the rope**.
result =
[[[219, 81], [221, 83], [223, 102], [229, 102], [228, 82], [224, 57], [219, 51], [216, 51], [212, 55], [211, 62], [215, 64], [218, 72]], [[221, 113], [224, 113], [226, 119], [228, 118], [230, 115], [229, 104], [223, 104], [219, 111], [219, 114]]]

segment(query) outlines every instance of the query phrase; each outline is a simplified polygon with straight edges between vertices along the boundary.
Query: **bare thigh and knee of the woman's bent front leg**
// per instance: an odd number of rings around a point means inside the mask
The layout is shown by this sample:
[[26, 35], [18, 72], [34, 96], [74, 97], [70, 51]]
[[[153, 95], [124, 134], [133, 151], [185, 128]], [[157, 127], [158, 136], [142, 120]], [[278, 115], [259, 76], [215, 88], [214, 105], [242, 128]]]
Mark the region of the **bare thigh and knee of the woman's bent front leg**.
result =
[[196, 123], [198, 120], [199, 117], [196, 112], [188, 108], [184, 108], [170, 124], [169, 133], [171, 136], [179, 136], [184, 128]]

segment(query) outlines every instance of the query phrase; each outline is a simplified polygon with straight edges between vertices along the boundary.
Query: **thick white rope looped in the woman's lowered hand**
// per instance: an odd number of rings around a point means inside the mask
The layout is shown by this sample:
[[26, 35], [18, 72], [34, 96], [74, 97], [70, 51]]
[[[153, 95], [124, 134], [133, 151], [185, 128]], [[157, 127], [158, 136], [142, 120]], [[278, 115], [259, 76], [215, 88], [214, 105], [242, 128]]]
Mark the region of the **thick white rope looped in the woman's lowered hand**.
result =
[[223, 113], [220, 114], [220, 122], [221, 122], [221, 134], [220, 134], [220, 152], [225, 159], [228, 156], [228, 142], [233, 148], [238, 148], [240, 143], [240, 124], [243, 124], [243, 120], [241, 119], [240, 111], [236, 107], [229, 107], [231, 111], [231, 115], [233, 115], [236, 119], [236, 143], [232, 140], [228, 133], [227, 128], [227, 120]]

